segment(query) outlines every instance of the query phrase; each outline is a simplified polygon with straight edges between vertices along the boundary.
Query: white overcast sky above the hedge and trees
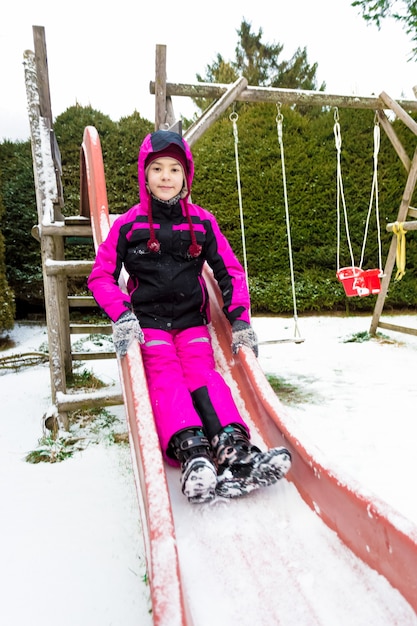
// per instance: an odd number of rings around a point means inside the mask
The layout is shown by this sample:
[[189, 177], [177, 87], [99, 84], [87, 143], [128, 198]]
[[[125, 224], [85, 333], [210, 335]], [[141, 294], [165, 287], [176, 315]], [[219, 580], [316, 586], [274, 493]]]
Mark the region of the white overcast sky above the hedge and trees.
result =
[[[167, 46], [168, 81], [196, 82], [220, 53], [235, 58], [242, 19], [263, 43], [284, 46], [282, 60], [307, 48], [318, 63], [318, 84], [328, 93], [414, 99], [417, 66], [407, 62], [411, 41], [398, 23], [368, 26], [351, 0], [15, 0], [0, 9], [0, 141], [27, 139], [29, 122], [23, 53], [33, 50], [32, 26], [44, 26], [52, 112], [79, 103], [117, 121], [134, 110], [154, 119], [149, 82], [155, 77], [156, 44]], [[188, 98], [174, 111], [191, 116]]]

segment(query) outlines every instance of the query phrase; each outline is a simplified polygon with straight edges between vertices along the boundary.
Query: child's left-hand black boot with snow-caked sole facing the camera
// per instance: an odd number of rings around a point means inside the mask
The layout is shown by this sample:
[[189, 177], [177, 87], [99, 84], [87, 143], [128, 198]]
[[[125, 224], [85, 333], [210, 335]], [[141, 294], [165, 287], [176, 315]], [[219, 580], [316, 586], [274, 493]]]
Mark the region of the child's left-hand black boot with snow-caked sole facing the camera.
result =
[[169, 452], [181, 463], [181, 489], [188, 501], [200, 504], [216, 495], [217, 472], [210, 445], [201, 428], [176, 433]]

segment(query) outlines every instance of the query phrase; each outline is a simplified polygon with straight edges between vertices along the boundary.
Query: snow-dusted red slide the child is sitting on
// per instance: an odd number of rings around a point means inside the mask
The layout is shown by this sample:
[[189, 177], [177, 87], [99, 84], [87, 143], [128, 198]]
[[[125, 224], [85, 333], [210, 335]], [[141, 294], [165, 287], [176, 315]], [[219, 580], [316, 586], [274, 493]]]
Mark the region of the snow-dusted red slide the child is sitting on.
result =
[[[84, 131], [81, 166], [82, 212], [90, 214], [97, 248], [107, 235], [110, 218], [100, 140], [94, 127], [87, 127]], [[247, 623], [268, 626], [296, 623], [417, 624], [417, 620], [410, 621], [410, 618], [408, 621], [396, 621], [399, 618], [392, 614], [388, 591], [383, 591], [382, 597], [373, 598], [379, 579], [369, 583], [367, 578], [381, 574], [390, 593], [397, 593], [395, 590], [398, 590], [403, 596], [401, 601], [411, 614], [414, 616], [417, 613], [417, 527], [326, 467], [314, 451], [306, 448], [301, 441], [302, 435], [297, 436], [252, 352], [242, 349], [237, 356], [231, 354], [230, 328], [222, 313], [217, 285], [209, 269], [205, 278], [212, 303], [212, 335], [217, 366], [230, 385], [254, 436], [268, 447], [284, 444], [291, 451], [293, 465], [288, 480], [262, 490], [265, 494], [257, 493], [233, 500], [224, 504], [223, 508], [217, 505], [215, 509], [207, 505], [204, 512], [201, 512], [201, 507], [189, 505], [181, 493], [177, 497], [180, 491], [178, 470], [167, 468], [162, 459], [139, 347], [132, 346], [127, 356], [119, 360], [141, 507], [154, 624], [243, 625], [245, 615], [248, 620], [250, 618]], [[251, 511], [258, 524], [256, 538], [253, 536]], [[301, 518], [304, 526], [301, 526]], [[234, 519], [236, 524], [233, 524]], [[235, 528], [235, 525], [239, 527]], [[229, 526], [233, 526], [230, 531]], [[223, 533], [230, 533], [227, 541]], [[320, 555], [315, 550], [311, 561], [309, 547], [313, 543], [316, 545], [316, 538], [309, 537], [307, 542], [306, 535], [309, 533], [324, 537], [319, 548]], [[342, 547], [336, 548], [339, 544]], [[329, 558], [336, 559], [335, 562], [346, 561], [346, 567], [350, 569], [343, 574], [344, 581], [348, 576], [349, 580], [351, 576], [359, 578], [352, 578], [353, 582], [349, 585], [333, 580], [341, 578], [338, 569], [335, 569], [339, 564], [331, 572], [324, 571], [329, 569], [327, 557], [323, 556], [326, 551], [332, 553]], [[203, 558], [206, 559], [206, 569], [203, 567], [198, 571], [198, 559]], [[300, 567], [304, 559], [307, 565], [299, 571], [296, 564]], [[320, 559], [323, 563], [321, 569], [317, 565]], [[352, 559], [355, 559], [354, 563]], [[229, 569], [232, 567], [234, 569]], [[338, 591], [332, 591], [329, 585], [341, 585], [343, 588], [339, 591], [345, 599], [355, 585], [369, 585], [369, 613], [375, 617], [378, 611], [386, 610], [384, 617], [379, 622], [365, 621], [365, 618], [355, 621], [355, 611], [348, 600], [351, 621], [343, 621], [337, 605], [333, 615], [338, 616], [337, 621], [326, 621], [322, 604], [317, 604], [320, 590], [315, 589], [314, 580], [307, 581], [309, 574], [314, 578], [315, 567], [318, 567], [317, 578], [326, 580], [323, 602], [336, 602], [334, 596]], [[227, 616], [228, 609], [220, 600], [222, 595], [230, 595], [234, 587], [239, 586], [237, 571], [247, 572], [255, 589], [254, 597], [248, 604], [248, 607], [256, 605], [254, 616], [249, 615], [245, 594], [239, 592], [237, 597], [232, 598], [231, 616]], [[265, 575], [263, 579], [261, 571], [267, 571], [268, 577]], [[197, 576], [204, 578], [201, 597]], [[284, 601], [284, 595], [290, 595], [290, 601]], [[199, 610], [201, 603], [204, 603], [204, 611]], [[366, 616], [367, 608], [361, 598], [358, 603], [361, 604], [358, 610]], [[219, 609], [222, 619], [216, 614], [216, 606], [222, 607]], [[291, 611], [291, 621], [285, 618], [286, 610]], [[278, 619], [278, 614], [283, 617]]]

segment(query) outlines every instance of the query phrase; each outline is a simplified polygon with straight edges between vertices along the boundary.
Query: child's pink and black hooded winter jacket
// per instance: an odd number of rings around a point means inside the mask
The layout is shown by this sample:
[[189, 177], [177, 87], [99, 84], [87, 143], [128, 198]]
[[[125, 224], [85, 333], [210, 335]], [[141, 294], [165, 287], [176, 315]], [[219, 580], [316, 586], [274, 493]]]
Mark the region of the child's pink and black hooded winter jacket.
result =
[[[185, 185], [175, 204], [151, 197], [146, 160], [164, 150], [181, 149]], [[215, 217], [189, 202], [194, 176], [191, 150], [180, 135], [156, 131], [145, 137], [138, 159], [140, 204], [118, 217], [100, 245], [88, 287], [112, 321], [132, 310], [144, 328], [184, 329], [210, 321], [202, 270], [212, 268], [232, 324], [249, 322], [249, 293], [242, 265], [221, 233]], [[127, 293], [119, 286], [122, 268]]]

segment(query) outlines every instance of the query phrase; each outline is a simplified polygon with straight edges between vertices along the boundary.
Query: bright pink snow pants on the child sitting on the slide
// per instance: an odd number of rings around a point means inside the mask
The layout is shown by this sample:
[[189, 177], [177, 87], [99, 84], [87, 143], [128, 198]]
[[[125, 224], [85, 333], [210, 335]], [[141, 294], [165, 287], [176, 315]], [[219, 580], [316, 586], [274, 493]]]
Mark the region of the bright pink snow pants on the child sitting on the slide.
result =
[[[221, 426], [241, 424], [248, 432], [223, 377], [215, 370], [206, 326], [165, 331], [144, 328], [141, 345], [155, 425], [164, 458], [171, 437], [184, 428], [201, 428], [191, 394], [204, 388]], [[198, 392], [197, 392], [198, 393]]]

